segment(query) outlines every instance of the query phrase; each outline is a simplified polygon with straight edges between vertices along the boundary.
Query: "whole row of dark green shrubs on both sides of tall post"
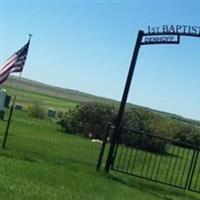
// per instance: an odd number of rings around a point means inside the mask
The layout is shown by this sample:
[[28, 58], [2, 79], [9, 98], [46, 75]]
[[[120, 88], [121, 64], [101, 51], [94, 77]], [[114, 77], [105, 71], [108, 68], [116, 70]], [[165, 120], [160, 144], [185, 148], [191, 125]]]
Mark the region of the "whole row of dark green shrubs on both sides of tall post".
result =
[[[115, 106], [103, 103], [82, 103], [66, 113], [58, 114], [58, 123], [66, 133], [79, 133], [85, 137], [102, 139], [108, 122], [114, 124], [117, 116]], [[175, 119], [158, 115], [152, 111], [138, 108], [126, 109], [121, 127], [130, 131], [123, 131], [120, 143], [131, 148], [139, 148], [156, 153], [166, 153], [168, 145], [165, 140], [155, 136], [175, 139], [190, 144], [200, 144], [200, 133], [192, 125], [183, 124]], [[134, 130], [147, 134], [137, 134]]]

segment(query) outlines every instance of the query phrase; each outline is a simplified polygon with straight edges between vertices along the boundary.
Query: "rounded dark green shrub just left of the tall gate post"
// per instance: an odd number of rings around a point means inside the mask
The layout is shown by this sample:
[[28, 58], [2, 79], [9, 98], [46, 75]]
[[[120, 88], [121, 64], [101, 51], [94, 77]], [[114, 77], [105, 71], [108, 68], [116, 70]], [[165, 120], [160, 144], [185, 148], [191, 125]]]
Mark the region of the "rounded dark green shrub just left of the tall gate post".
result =
[[102, 103], [82, 103], [66, 113], [59, 113], [61, 129], [86, 137], [102, 139], [108, 122], [113, 122], [115, 107]]

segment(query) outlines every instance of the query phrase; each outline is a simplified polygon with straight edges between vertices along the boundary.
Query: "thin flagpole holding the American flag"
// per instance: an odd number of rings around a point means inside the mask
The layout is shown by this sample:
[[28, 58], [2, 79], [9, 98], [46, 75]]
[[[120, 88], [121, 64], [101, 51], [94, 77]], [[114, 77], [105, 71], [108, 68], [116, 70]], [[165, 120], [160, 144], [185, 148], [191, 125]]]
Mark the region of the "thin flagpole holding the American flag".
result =
[[[29, 34], [28, 42], [30, 42], [32, 36], [33, 36], [32, 34]], [[13, 99], [13, 102], [12, 102], [12, 106], [10, 108], [10, 113], [9, 113], [9, 117], [8, 117], [8, 123], [7, 123], [6, 131], [5, 131], [4, 138], [3, 138], [3, 143], [2, 143], [2, 149], [5, 149], [5, 147], [6, 147], [6, 142], [7, 142], [7, 138], [8, 138], [8, 132], [9, 132], [10, 123], [11, 123], [11, 119], [12, 119], [13, 109], [14, 109], [14, 106], [15, 106], [15, 101], [16, 101], [16, 98], [17, 98], [17, 92], [18, 92], [18, 89], [19, 89], [19, 80], [21, 79], [22, 71], [20, 72], [20, 74], [18, 76], [18, 79], [17, 79], [17, 87], [16, 87], [17, 90], [15, 92], [15, 96], [14, 96], [14, 99]]]

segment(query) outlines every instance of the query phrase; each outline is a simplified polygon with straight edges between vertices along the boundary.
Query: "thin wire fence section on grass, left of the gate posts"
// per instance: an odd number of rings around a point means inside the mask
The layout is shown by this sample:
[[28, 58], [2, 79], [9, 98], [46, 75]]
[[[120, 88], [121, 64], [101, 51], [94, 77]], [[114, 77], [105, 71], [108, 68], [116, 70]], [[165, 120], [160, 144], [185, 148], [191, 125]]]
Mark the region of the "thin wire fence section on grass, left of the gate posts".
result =
[[[58, 117], [48, 116], [48, 105], [43, 104], [44, 116], [34, 117], [28, 104], [13, 110], [5, 148], [17, 151], [26, 157], [45, 159], [51, 157], [59, 162], [75, 161], [96, 165], [100, 141], [92, 141], [80, 133], [69, 134], [61, 130]], [[21, 105], [21, 104], [20, 104]], [[0, 120], [0, 142], [2, 144], [8, 124], [10, 108], [5, 111], [5, 120]], [[88, 133], [89, 134], [89, 133]]]

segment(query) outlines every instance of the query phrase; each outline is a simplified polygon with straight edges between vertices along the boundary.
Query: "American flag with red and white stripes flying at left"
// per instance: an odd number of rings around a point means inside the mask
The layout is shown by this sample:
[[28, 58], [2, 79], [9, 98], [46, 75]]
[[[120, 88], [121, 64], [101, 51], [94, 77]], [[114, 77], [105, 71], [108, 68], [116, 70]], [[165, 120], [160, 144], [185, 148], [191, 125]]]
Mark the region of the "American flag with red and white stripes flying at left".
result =
[[8, 58], [0, 68], [0, 84], [6, 81], [11, 73], [22, 72], [28, 54], [29, 43], [30, 39], [19, 51]]

